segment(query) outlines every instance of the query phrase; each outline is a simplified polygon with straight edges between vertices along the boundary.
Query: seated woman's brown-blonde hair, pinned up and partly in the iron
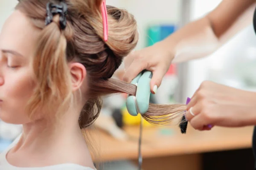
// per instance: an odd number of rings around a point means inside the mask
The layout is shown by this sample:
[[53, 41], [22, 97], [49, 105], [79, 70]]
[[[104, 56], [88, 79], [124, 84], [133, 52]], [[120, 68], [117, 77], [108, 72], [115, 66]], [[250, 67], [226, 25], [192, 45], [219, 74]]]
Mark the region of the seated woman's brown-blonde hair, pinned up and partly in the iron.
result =
[[[55, 0], [52, 0], [54, 2]], [[100, 12], [102, 0], [64, 0], [68, 6], [67, 27], [60, 29], [59, 17], [44, 25], [46, 4], [49, 0], [19, 0], [16, 9], [31, 18], [41, 29], [35, 48], [33, 68], [37, 87], [28, 104], [31, 115], [40, 108], [55, 108], [61, 113], [72, 100], [71, 77], [67, 63], [76, 60], [87, 70], [87, 102], [81, 111], [81, 129], [90, 126], [99, 116], [101, 97], [109, 94], [136, 94], [136, 86], [117, 79], [113, 73], [123, 57], [138, 42], [137, 23], [126, 10], [107, 6], [108, 41], [103, 38]], [[47, 106], [47, 107], [45, 107]], [[181, 119], [186, 105], [150, 104], [144, 119], [153, 124], [168, 124]]]

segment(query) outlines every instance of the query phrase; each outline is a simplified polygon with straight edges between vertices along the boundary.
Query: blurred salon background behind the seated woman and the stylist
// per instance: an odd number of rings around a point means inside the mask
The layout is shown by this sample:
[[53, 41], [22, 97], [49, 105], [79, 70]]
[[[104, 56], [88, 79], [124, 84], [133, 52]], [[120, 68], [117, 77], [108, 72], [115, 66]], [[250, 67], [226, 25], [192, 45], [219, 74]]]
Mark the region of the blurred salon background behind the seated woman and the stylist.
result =
[[[163, 40], [186, 23], [203, 17], [221, 0], [107, 0], [108, 5], [134, 14], [140, 40], [135, 50]], [[16, 0], [1, 0], [0, 28]], [[256, 36], [246, 27], [213, 54], [171, 65], [154, 103], [185, 103], [204, 80], [248, 91], [256, 91]], [[123, 66], [114, 77], [122, 79]], [[99, 119], [88, 131], [95, 148], [95, 163], [103, 170], [137, 170], [140, 117], [130, 116], [125, 94], [104, 99]], [[21, 132], [21, 127], [0, 122], [0, 151]], [[180, 134], [177, 126], [155, 127], [143, 122], [144, 170], [249, 170], [253, 127], [218, 128], [198, 132], [188, 126]]]

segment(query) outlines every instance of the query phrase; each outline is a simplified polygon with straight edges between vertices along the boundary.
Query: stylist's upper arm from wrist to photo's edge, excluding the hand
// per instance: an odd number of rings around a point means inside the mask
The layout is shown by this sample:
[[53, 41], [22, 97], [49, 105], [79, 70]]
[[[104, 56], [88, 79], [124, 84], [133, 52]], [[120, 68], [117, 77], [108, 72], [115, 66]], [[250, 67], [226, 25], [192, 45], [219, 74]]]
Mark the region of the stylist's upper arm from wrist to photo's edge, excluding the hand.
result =
[[[205, 17], [180, 28], [163, 40], [168, 46], [172, 62], [185, 62], [205, 57], [241, 29], [252, 23], [255, 0], [222, 1]], [[167, 45], [166, 45], [167, 44]]]

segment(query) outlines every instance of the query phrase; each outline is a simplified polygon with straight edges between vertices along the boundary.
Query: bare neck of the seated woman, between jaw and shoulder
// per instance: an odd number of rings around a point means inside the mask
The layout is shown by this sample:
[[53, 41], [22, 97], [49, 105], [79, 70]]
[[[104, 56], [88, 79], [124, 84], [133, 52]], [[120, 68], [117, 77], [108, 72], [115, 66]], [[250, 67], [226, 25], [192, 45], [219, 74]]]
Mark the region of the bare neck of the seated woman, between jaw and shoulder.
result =
[[[74, 105], [66, 112], [58, 116], [44, 116], [23, 125], [23, 134], [20, 139], [20, 147], [36, 147], [39, 151], [44, 147], [56, 147], [56, 144], [67, 144], [73, 140], [83, 140], [84, 138], [79, 127], [79, 116], [83, 105]], [[46, 113], [37, 115], [55, 115]]]

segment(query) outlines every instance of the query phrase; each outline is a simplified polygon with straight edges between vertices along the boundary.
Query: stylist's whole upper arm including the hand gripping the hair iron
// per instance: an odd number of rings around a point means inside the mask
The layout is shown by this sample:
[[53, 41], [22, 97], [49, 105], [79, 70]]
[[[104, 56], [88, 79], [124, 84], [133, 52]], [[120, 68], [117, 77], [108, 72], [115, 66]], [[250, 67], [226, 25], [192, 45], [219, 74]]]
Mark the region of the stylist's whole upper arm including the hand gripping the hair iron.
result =
[[123, 80], [131, 82], [141, 71], [151, 71], [150, 88], [154, 94], [172, 62], [207, 56], [252, 23], [255, 2], [223, 0], [200, 20], [187, 24], [161, 42], [133, 52], [125, 57]]

